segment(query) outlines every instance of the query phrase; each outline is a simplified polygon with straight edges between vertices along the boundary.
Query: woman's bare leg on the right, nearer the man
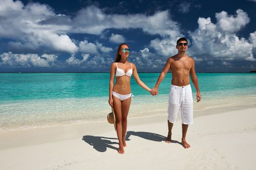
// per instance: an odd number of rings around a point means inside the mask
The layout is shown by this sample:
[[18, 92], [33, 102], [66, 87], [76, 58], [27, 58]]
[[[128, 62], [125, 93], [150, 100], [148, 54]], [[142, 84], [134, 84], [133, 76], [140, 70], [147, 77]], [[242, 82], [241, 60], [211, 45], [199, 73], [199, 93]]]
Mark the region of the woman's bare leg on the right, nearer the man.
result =
[[131, 105], [132, 98], [128, 98], [121, 102], [122, 105], [122, 142], [123, 147], [126, 147], [125, 136], [127, 131], [127, 116]]

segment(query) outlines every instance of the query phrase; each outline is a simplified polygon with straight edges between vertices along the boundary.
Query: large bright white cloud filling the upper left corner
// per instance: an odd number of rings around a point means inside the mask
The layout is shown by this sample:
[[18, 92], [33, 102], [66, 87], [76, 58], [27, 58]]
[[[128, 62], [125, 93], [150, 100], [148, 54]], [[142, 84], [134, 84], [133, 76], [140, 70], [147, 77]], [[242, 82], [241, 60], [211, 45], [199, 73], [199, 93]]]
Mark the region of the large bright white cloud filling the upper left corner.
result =
[[[63, 34], [63, 26], [41, 25], [40, 21], [57, 16], [48, 5], [20, 1], [2, 0], [0, 7], [0, 37], [16, 39], [9, 42], [9, 48], [46, 49], [75, 53], [78, 48], [68, 35]], [[65, 27], [64, 27], [65, 28]]]

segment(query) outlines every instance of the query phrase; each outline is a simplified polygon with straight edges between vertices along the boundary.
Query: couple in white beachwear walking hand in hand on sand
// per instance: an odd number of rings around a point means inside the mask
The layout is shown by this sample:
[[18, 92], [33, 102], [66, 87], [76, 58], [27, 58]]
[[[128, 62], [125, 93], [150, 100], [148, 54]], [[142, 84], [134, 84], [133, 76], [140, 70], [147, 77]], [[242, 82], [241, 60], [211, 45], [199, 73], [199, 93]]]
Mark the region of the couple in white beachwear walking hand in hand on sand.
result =
[[[125, 43], [118, 46], [115, 62], [111, 65], [109, 81], [109, 104], [113, 106], [116, 117], [119, 142], [118, 153], [123, 154], [123, 148], [126, 147], [125, 136], [127, 131], [127, 115], [132, 97], [130, 85], [131, 76], [134, 76], [136, 82], [142, 88], [149, 91], [152, 95], [157, 95], [158, 86], [169, 70], [172, 72], [172, 85], [169, 93], [168, 105], [168, 135], [165, 142], [171, 143], [173, 123], [177, 119], [179, 108], [181, 108], [181, 142], [184, 148], [190, 148], [190, 145], [186, 141], [188, 125], [193, 123], [193, 97], [190, 86], [190, 76], [197, 90], [197, 102], [200, 102], [201, 95], [195, 71], [195, 62], [186, 54], [188, 48], [187, 39], [179, 38], [177, 40], [176, 48], [178, 53], [168, 58], [165, 67], [158, 77], [156, 85], [153, 89], [150, 89], [139, 79], [135, 64], [127, 61], [130, 54], [129, 46]], [[115, 74], [116, 84], [114, 85]]]

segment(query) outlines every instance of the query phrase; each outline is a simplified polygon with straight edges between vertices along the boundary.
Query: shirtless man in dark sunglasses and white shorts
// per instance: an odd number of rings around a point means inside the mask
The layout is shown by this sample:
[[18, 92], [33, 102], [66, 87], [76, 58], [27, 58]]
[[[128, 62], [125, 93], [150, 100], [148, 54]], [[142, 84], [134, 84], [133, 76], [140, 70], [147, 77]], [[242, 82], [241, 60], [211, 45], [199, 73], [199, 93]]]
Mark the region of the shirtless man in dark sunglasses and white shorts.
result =
[[190, 145], [186, 141], [188, 125], [193, 123], [193, 97], [189, 74], [191, 75], [192, 82], [197, 90], [197, 102], [201, 101], [201, 94], [198, 87], [195, 62], [186, 54], [186, 50], [188, 49], [187, 39], [179, 38], [177, 40], [176, 48], [178, 53], [168, 58], [165, 67], [158, 77], [157, 84], [151, 93], [152, 95], [158, 94], [158, 86], [170, 69], [172, 72], [172, 85], [168, 105], [168, 136], [165, 142], [171, 143], [173, 123], [177, 119], [179, 108], [181, 108], [181, 142], [184, 148], [190, 148]]

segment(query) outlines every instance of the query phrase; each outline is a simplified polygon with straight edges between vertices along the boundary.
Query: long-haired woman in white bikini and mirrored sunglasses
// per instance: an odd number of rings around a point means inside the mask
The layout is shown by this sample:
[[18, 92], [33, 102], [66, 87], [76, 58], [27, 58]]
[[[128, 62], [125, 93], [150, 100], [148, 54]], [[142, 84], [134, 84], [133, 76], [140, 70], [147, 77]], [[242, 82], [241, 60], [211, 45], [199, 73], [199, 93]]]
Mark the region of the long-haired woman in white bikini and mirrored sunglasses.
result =
[[[115, 62], [111, 65], [109, 81], [109, 105], [113, 106], [116, 116], [116, 128], [119, 141], [118, 153], [124, 153], [125, 135], [127, 130], [127, 115], [131, 104], [131, 76], [133, 75], [138, 85], [151, 91], [138, 77], [135, 64], [129, 63], [129, 46], [125, 43], [118, 46]], [[114, 79], [116, 74], [116, 84]]]

